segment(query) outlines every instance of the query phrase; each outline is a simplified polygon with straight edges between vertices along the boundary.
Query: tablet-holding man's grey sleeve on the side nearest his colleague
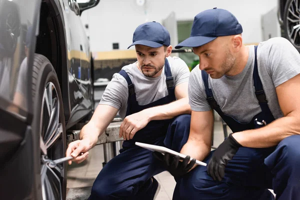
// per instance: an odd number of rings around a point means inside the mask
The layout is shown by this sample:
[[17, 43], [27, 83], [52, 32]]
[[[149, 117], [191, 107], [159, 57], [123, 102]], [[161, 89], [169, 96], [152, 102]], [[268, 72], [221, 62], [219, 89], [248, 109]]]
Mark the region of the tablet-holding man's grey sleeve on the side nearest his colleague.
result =
[[201, 71], [196, 66], [190, 72], [188, 81], [189, 105], [193, 111], [208, 111], [211, 109], [206, 100], [206, 94], [203, 85]]

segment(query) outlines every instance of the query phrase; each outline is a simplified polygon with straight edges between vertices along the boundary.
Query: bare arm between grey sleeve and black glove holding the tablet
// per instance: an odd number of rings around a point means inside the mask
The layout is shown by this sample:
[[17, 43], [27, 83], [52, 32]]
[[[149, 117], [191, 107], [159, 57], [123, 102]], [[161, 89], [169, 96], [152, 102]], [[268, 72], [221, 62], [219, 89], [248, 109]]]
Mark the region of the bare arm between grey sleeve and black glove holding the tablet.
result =
[[190, 131], [180, 153], [203, 160], [210, 152], [213, 131], [213, 112], [191, 111]]

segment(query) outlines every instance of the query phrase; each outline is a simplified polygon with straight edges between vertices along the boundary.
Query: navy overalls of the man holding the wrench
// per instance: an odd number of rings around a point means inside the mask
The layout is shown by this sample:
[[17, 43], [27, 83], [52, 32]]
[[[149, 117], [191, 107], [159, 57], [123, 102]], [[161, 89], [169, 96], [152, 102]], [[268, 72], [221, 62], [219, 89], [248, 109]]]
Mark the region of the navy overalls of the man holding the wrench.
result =
[[[126, 116], [175, 100], [174, 81], [167, 59], [165, 59], [164, 73], [168, 95], [146, 105], [139, 105], [136, 101], [134, 85], [128, 74], [124, 70], [119, 73], [128, 83]], [[89, 199], [153, 199], [157, 185], [152, 184], [151, 177], [164, 171], [165, 168], [152, 156], [152, 151], [134, 143], [139, 141], [180, 151], [187, 141], [189, 125], [189, 114], [167, 120], [151, 120], [144, 128], [137, 131], [132, 139], [123, 141], [120, 154], [107, 162], [96, 177]]]

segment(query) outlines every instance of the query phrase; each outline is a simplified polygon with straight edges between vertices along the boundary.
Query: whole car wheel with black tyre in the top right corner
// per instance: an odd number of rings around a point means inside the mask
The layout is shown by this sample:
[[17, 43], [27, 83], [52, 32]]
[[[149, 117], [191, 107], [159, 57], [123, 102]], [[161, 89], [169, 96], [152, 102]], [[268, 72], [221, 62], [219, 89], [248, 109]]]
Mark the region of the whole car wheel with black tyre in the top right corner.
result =
[[285, 38], [300, 51], [300, 1], [287, 0], [285, 3], [283, 24]]

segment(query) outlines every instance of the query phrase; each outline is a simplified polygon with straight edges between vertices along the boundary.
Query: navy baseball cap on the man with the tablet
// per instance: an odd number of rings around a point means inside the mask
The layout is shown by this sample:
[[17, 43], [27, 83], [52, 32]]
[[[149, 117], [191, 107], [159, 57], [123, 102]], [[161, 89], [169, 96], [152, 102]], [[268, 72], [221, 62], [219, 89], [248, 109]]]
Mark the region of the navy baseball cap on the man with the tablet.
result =
[[228, 10], [214, 7], [204, 10], [194, 17], [190, 36], [175, 48], [201, 46], [218, 36], [240, 33], [242, 33], [242, 27], [236, 17]]

